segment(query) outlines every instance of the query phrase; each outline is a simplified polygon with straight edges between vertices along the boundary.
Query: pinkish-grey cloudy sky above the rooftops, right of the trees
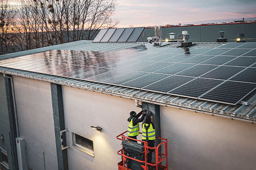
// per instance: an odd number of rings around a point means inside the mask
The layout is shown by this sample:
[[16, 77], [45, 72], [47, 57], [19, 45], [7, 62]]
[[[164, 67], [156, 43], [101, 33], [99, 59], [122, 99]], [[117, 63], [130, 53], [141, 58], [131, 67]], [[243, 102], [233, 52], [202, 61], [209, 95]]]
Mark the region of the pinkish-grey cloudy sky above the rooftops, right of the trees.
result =
[[[19, 0], [9, 0], [17, 3]], [[116, 0], [117, 27], [256, 20], [256, 0]]]

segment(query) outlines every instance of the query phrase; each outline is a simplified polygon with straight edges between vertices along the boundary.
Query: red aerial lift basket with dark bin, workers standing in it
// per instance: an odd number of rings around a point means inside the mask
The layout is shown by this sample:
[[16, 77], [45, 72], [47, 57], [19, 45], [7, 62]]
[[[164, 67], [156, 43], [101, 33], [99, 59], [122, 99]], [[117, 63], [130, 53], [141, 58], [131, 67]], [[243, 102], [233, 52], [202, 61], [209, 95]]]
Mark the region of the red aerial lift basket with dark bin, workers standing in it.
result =
[[[118, 170], [168, 170], [167, 139], [156, 137], [161, 140], [161, 143], [156, 147], [149, 147], [146, 141], [129, 138], [124, 135], [125, 133], [127, 131], [116, 137], [116, 139], [122, 141], [121, 145], [123, 146], [122, 149], [117, 151], [117, 154], [122, 157], [121, 162], [118, 163]], [[140, 132], [140, 134], [142, 133]], [[159, 151], [161, 148], [164, 153]], [[155, 158], [155, 163], [147, 163], [149, 149], [154, 150], [152, 157], [153, 162]]]

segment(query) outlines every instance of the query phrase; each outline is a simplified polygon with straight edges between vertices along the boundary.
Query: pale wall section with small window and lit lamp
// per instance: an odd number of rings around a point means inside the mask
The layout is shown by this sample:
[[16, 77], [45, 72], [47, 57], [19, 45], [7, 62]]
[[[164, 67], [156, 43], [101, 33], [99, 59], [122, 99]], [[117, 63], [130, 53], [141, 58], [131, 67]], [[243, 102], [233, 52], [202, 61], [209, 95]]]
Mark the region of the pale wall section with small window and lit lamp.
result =
[[[65, 124], [69, 131], [69, 169], [117, 169], [121, 161], [117, 151], [122, 147], [116, 136], [127, 130], [130, 112], [140, 112], [134, 100], [70, 87], [62, 87], [62, 90]], [[102, 133], [90, 128], [91, 125], [103, 128]], [[72, 147], [71, 132], [93, 141], [94, 157]]]

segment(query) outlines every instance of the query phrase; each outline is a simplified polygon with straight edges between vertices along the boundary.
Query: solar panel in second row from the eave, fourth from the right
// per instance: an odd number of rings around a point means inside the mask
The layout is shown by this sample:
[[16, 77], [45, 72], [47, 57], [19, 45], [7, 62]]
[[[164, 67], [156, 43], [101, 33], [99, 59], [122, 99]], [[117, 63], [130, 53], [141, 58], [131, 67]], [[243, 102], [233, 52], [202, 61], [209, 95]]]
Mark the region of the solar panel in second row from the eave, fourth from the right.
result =
[[194, 64], [173, 64], [171, 66], [165, 67], [164, 69], [156, 71], [156, 73], [163, 73], [163, 74], [175, 74], [182, 70], [188, 69], [189, 67], [193, 66]]

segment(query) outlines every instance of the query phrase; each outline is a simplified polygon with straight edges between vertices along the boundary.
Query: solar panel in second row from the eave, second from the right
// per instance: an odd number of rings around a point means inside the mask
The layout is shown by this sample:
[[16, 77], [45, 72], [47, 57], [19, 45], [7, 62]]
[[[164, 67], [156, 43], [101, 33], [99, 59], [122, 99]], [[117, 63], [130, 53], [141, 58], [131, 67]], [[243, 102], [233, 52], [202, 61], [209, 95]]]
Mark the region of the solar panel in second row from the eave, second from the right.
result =
[[211, 79], [223, 79], [226, 80], [239, 71], [242, 71], [243, 67], [229, 67], [229, 66], [220, 66], [217, 69], [203, 75], [203, 78], [211, 78]]

